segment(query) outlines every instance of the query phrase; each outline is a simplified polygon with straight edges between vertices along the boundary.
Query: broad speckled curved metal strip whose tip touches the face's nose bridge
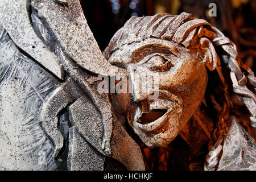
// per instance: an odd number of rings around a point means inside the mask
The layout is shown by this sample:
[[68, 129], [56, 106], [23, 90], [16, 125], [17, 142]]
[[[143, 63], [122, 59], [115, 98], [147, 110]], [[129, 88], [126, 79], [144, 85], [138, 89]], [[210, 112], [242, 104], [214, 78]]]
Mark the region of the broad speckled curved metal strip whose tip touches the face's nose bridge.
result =
[[35, 0], [31, 2], [31, 6], [38, 10], [39, 17], [65, 54], [80, 67], [100, 75], [126, 75], [125, 70], [114, 67], [102, 55], [79, 0], [67, 1], [67, 6], [52, 0]]

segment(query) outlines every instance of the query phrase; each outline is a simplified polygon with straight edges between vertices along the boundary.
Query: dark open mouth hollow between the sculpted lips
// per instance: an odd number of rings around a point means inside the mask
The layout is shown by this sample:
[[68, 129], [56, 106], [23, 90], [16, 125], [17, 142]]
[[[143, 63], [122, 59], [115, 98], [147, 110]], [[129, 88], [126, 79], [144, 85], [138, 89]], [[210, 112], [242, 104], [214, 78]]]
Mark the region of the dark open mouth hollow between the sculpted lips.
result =
[[159, 119], [166, 113], [167, 109], [153, 109], [150, 111], [150, 113], [143, 113], [141, 117], [139, 117], [137, 122], [141, 125], [146, 125], [148, 123], [156, 121], [156, 119]]

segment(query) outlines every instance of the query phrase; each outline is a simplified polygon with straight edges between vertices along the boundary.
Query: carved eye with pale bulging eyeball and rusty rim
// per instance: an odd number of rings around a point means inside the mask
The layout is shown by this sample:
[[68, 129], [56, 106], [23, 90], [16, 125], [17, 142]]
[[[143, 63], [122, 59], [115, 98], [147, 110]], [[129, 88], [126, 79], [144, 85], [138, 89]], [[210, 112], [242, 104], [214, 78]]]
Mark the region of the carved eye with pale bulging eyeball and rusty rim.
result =
[[174, 67], [171, 61], [168, 61], [163, 56], [151, 57], [150, 59], [148, 59], [147, 64], [150, 65], [150, 69], [152, 71], [156, 71], [156, 72], [166, 72], [171, 67]]

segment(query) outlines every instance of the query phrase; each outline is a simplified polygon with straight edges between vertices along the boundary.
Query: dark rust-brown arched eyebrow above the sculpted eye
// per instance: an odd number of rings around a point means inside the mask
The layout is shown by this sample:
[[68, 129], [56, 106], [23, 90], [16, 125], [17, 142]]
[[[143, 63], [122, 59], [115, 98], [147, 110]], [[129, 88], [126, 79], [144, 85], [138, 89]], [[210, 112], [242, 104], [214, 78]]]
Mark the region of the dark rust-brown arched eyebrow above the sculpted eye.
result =
[[144, 57], [153, 53], [164, 53], [167, 55], [172, 54], [175, 56], [179, 55], [179, 51], [177, 50], [177, 48], [170, 50], [170, 47], [164, 46], [163, 44], [146, 44], [142, 47], [135, 49], [131, 53], [131, 60], [129, 61], [129, 63], [138, 63], [139, 61], [144, 59]]

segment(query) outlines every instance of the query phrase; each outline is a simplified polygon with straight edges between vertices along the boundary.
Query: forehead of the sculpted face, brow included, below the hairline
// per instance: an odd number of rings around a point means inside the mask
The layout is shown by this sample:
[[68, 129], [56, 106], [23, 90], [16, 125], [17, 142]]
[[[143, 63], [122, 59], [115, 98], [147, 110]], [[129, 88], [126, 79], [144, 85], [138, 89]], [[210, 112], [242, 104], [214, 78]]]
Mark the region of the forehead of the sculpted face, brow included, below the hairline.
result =
[[151, 38], [142, 42], [125, 44], [115, 49], [111, 53], [108, 61], [111, 64], [121, 63], [127, 66], [153, 53], [173, 54], [183, 59], [187, 56], [188, 49], [175, 42]]

